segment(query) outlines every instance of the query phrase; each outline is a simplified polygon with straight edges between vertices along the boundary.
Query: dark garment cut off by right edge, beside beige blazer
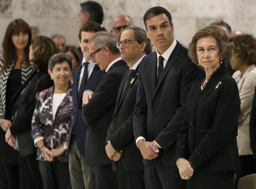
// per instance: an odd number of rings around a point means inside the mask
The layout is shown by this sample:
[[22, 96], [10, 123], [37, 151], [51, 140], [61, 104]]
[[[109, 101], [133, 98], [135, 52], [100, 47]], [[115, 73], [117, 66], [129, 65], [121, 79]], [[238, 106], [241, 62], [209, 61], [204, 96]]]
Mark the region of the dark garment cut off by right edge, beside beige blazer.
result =
[[253, 159], [256, 159], [256, 87], [255, 93], [252, 101], [252, 110], [250, 117], [250, 143], [253, 154]]

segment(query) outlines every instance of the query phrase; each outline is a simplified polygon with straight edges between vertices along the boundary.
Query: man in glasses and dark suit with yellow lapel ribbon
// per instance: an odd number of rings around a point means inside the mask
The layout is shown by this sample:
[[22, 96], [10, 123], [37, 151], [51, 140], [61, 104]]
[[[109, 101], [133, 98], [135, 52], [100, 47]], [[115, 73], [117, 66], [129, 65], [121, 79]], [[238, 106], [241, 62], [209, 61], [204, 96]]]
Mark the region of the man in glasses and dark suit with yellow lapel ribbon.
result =
[[139, 63], [144, 56], [151, 53], [151, 43], [143, 29], [129, 26], [122, 32], [117, 46], [121, 51], [122, 60], [127, 62], [130, 69], [119, 86], [114, 119], [109, 127], [105, 148], [110, 159], [113, 159], [116, 151], [123, 151], [119, 161], [112, 161], [112, 167], [117, 169], [119, 188], [145, 188], [142, 155], [135, 144], [133, 134], [133, 116]]

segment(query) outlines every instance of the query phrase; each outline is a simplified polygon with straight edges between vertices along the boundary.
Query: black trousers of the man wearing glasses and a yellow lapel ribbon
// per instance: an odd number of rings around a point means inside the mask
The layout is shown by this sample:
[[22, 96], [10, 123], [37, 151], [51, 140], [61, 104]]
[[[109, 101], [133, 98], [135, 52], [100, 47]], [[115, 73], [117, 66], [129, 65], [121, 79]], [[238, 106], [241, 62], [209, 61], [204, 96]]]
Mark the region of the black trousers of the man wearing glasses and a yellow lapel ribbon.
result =
[[125, 171], [120, 163], [116, 162], [117, 181], [119, 189], [145, 189], [144, 171]]

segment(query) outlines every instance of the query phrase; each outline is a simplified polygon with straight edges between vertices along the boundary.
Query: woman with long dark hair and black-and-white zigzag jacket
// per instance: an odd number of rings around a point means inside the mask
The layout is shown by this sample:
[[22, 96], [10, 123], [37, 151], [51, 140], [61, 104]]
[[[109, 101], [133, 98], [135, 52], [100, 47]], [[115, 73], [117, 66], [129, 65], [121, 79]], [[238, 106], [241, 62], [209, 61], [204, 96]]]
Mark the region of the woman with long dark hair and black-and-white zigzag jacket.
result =
[[[18, 188], [17, 152], [5, 142], [5, 132], [12, 125], [12, 98], [34, 72], [29, 64], [31, 28], [22, 19], [9, 23], [0, 55], [0, 188]], [[15, 142], [12, 137], [9, 142]]]

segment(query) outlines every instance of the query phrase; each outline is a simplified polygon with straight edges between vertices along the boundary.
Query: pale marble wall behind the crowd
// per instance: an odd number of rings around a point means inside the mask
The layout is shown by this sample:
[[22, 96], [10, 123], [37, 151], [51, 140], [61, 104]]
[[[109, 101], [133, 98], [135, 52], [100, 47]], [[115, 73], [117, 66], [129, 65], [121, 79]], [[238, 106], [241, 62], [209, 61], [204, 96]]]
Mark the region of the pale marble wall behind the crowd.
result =
[[[143, 15], [152, 6], [163, 6], [171, 12], [175, 38], [188, 46], [199, 29], [217, 19], [224, 19], [232, 30], [241, 29], [256, 36], [256, 0], [95, 0], [104, 9], [105, 28], [112, 20], [128, 14], [134, 24], [144, 28]], [[83, 0], [0, 0], [0, 44], [10, 21], [22, 18], [37, 26], [41, 35], [60, 33], [67, 44], [78, 46], [76, 23], [79, 3]], [[0, 47], [1, 52], [1, 47]]]

